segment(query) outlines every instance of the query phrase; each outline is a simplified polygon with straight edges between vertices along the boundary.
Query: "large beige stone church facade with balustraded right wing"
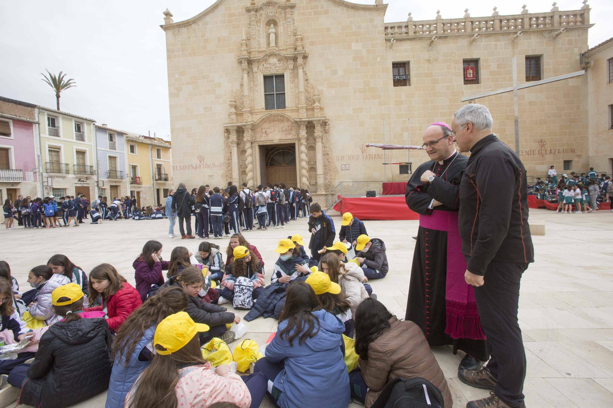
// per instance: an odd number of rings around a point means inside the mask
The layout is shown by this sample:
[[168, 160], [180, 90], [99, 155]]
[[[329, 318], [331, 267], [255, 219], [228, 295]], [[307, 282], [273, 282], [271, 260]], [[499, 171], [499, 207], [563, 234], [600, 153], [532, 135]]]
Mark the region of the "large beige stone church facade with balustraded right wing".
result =
[[[462, 97], [581, 70], [590, 9], [384, 23], [387, 5], [343, 0], [218, 0], [174, 22], [164, 12], [175, 181], [284, 182], [312, 194], [339, 181], [406, 180], [435, 121]], [[494, 8], [495, 9], [495, 8]], [[524, 69], [525, 66], [525, 69]], [[528, 172], [588, 167], [587, 80], [519, 91]], [[515, 146], [512, 93], [479, 99]], [[569, 170], [563, 170], [569, 168]]]

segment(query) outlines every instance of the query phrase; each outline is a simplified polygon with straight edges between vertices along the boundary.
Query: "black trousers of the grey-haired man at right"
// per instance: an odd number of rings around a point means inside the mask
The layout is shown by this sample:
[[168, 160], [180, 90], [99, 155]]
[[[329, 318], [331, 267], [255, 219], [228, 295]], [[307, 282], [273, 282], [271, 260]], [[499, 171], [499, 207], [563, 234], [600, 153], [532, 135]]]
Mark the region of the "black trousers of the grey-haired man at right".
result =
[[496, 394], [514, 408], [524, 406], [526, 354], [517, 309], [520, 280], [527, 268], [527, 263], [492, 261], [485, 271], [484, 285], [474, 288], [490, 353], [487, 368], [498, 380]]

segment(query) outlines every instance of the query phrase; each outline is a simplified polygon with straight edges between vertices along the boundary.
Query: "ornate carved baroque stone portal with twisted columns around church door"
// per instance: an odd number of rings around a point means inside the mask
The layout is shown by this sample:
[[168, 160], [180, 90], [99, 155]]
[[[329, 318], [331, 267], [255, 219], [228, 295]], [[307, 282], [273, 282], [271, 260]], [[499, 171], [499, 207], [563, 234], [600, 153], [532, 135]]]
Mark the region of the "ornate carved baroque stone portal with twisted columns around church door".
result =
[[[289, 1], [259, 6], [251, 1], [245, 7], [248, 26], [237, 58], [242, 77], [230, 95], [229, 123], [224, 124], [223, 176], [255, 187], [262, 183], [265, 167], [260, 149], [295, 143], [298, 187], [323, 193], [332, 189], [337, 168], [330, 124], [306, 72], [308, 53], [294, 24], [295, 7]], [[269, 75], [275, 75], [267, 78], [276, 84], [274, 96], [265, 89], [264, 77]]]

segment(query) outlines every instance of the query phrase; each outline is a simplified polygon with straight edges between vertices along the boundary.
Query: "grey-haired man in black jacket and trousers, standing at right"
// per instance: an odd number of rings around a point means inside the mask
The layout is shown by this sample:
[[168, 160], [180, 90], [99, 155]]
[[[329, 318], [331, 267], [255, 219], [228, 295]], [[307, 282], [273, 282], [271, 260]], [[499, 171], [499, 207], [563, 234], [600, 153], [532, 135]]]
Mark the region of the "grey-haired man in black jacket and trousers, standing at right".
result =
[[494, 393], [468, 408], [522, 408], [526, 356], [517, 322], [519, 287], [534, 248], [528, 225], [524, 164], [492, 133], [483, 105], [460, 108], [451, 124], [460, 151], [471, 155], [460, 183], [459, 228], [466, 283], [487, 337], [490, 360], [479, 370], [460, 370], [462, 382]]

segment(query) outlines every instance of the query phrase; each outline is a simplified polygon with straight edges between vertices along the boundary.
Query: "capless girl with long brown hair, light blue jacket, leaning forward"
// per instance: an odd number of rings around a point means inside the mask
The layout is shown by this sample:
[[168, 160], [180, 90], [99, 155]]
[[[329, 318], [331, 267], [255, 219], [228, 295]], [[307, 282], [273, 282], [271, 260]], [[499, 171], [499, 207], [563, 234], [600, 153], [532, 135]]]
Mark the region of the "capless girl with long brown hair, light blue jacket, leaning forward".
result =
[[153, 335], [158, 323], [185, 310], [188, 297], [180, 287], [165, 287], [148, 298], [128, 316], [113, 342], [113, 369], [107, 393], [107, 407], [123, 408], [136, 378], [153, 359]]

